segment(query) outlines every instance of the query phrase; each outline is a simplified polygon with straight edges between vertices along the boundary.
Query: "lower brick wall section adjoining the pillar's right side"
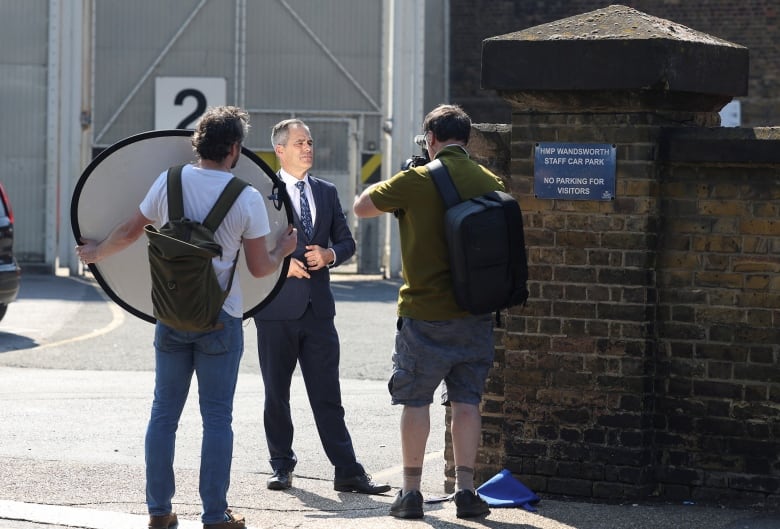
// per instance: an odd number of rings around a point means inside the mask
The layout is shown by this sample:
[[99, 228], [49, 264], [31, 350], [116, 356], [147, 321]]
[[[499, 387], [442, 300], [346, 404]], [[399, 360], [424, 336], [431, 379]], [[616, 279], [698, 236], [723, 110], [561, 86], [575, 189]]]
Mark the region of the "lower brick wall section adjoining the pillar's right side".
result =
[[[767, 156], [746, 163], [760, 136]], [[670, 498], [780, 503], [778, 137], [664, 139], [654, 427]]]

